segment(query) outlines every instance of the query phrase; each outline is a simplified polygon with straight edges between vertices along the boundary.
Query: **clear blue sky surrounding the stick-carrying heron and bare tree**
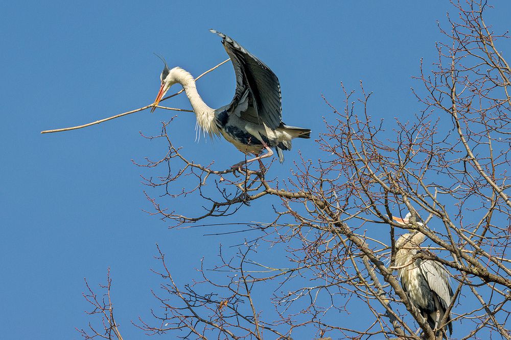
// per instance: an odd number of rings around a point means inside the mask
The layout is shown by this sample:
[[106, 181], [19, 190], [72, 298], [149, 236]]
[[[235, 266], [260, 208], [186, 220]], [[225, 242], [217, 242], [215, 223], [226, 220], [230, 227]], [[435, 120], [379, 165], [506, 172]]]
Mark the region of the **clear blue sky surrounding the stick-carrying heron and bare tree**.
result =
[[[496, 2], [487, 21], [507, 29], [511, 3]], [[220, 243], [245, 236], [211, 237], [221, 229], [168, 230], [144, 213], [141, 168], [131, 160], [165, 152], [165, 145], [139, 135], [159, 132], [175, 113], [136, 113], [73, 132], [40, 135], [43, 129], [87, 123], [151, 103], [159, 88], [161, 61], [192, 74], [227, 58], [214, 28], [236, 39], [277, 74], [283, 117], [290, 125], [323, 131], [322, 116], [342, 104], [340, 82], [374, 91], [371, 114], [406, 117], [422, 109], [410, 87], [420, 59], [430, 69], [441, 36], [436, 20], [448, 2], [2, 2], [2, 181], [0, 194], [0, 337], [80, 338], [88, 309], [83, 277], [94, 286], [113, 277], [113, 299], [126, 339], [143, 333], [130, 324], [151, 321], [159, 279], [149, 269], [156, 242], [182, 284], [200, 258], [214, 265]], [[225, 64], [198, 85], [211, 107], [234, 94], [234, 72]], [[176, 87], [177, 90], [177, 87]], [[189, 108], [184, 96], [165, 102]], [[179, 114], [173, 142], [201, 163], [227, 167], [243, 155], [224, 140], [195, 140], [195, 117]], [[284, 165], [271, 172], [285, 178], [301, 150], [317, 159], [313, 139], [296, 140]], [[154, 174], [153, 174], [154, 175]], [[154, 192], [153, 192], [154, 194]], [[193, 200], [167, 201], [192, 212]], [[270, 218], [264, 208], [243, 208], [237, 221]], [[268, 253], [268, 258], [276, 254]], [[167, 338], [173, 338], [167, 336]]]

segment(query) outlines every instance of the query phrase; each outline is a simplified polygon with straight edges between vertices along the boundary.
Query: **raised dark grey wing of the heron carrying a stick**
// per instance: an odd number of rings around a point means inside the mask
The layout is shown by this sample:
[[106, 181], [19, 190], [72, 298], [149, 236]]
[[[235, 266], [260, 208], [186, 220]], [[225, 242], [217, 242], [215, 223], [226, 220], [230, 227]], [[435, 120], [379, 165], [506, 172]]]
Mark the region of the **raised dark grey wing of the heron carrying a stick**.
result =
[[225, 34], [210, 30], [223, 38], [222, 44], [233, 62], [236, 93], [228, 106], [229, 114], [275, 129], [281, 125], [281, 87], [277, 76], [262, 61]]

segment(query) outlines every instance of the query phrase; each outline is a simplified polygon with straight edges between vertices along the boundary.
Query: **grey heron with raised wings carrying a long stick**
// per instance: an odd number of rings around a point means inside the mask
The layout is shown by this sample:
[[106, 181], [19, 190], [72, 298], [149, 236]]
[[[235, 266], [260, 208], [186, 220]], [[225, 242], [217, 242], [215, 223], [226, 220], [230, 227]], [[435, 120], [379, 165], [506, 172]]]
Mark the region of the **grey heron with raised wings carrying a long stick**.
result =
[[[236, 73], [234, 99], [219, 109], [208, 107], [197, 92], [194, 77], [180, 67], [170, 69], [165, 63], [160, 75], [161, 87], [151, 112], [172, 85], [181, 84], [192, 104], [198, 126], [210, 137], [222, 135], [238, 150], [257, 156], [247, 163], [270, 157], [273, 147], [282, 163], [282, 151], [291, 149], [291, 140], [310, 138], [311, 130], [282, 122], [281, 88], [277, 76], [268, 66], [225, 34], [210, 31], [223, 38], [222, 44], [233, 63]], [[264, 155], [263, 149], [267, 150]]]

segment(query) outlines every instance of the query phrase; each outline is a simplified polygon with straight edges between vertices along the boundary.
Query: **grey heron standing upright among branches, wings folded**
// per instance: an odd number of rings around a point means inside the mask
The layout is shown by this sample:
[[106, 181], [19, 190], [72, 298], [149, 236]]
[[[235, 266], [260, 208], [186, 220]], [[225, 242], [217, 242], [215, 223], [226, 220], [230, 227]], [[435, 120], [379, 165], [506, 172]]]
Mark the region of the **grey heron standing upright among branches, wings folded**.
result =
[[[409, 225], [411, 214], [404, 219], [392, 217], [403, 225]], [[423, 225], [422, 222], [417, 222]], [[410, 230], [410, 229], [409, 229]], [[412, 261], [413, 255], [420, 252], [421, 244], [426, 239], [420, 231], [410, 230], [396, 242], [396, 267], [401, 279], [403, 290], [406, 291], [411, 303], [417, 307], [428, 321], [431, 329], [440, 327], [438, 321], [444, 318], [447, 307], [451, 304], [453, 293], [449, 283], [449, 273], [444, 265], [433, 260], [420, 258]], [[452, 334], [451, 315], [445, 320]]]

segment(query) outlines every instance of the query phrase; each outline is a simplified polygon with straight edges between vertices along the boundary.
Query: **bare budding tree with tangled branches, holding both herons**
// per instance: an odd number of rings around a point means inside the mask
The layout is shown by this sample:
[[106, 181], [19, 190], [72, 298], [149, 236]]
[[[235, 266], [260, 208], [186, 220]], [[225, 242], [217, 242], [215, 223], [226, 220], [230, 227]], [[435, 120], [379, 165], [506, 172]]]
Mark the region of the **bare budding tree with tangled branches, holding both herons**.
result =
[[[484, 22], [486, 2], [452, 5], [457, 15], [448, 17], [448, 29], [440, 27], [445, 39], [436, 45], [434, 70], [421, 65], [416, 77], [420, 113], [389, 127], [371, 117], [371, 93], [362, 84], [359, 92], [343, 88], [342, 108], [325, 98], [332, 114], [317, 139], [322, 159], [301, 159], [286, 180], [255, 164], [241, 175], [196, 164], [172, 143], [172, 122], [147, 137], [168, 144], [161, 159], [140, 164], [164, 171], [144, 177], [157, 196], [147, 194], [150, 213], [173, 226], [221, 223], [271, 197], [281, 205], [273, 221], [245, 224], [258, 236], [243, 240], [234, 256], [220, 250], [221, 263], [211, 272], [201, 267], [201, 280], [189, 285], [175, 283], [158, 248], [162, 283], [154, 295], [161, 310], [153, 311], [156, 322], [139, 320], [138, 327], [185, 339], [301, 339], [305, 328], [316, 338], [442, 339], [395, 273], [404, 231], [392, 216], [415, 212], [425, 223], [408, 227], [431, 246], [414, 259], [438, 261], [452, 277], [453, 336], [511, 338], [511, 69], [496, 46], [507, 35]], [[187, 216], [166, 208], [178, 197], [201, 199], [204, 211]], [[263, 244], [286, 251], [289, 266], [257, 261]], [[274, 288], [268, 301], [262, 286]], [[268, 302], [273, 308], [264, 309]], [[342, 319], [352, 308], [370, 315], [358, 328]]]

